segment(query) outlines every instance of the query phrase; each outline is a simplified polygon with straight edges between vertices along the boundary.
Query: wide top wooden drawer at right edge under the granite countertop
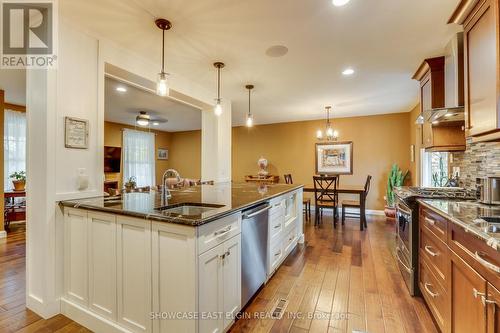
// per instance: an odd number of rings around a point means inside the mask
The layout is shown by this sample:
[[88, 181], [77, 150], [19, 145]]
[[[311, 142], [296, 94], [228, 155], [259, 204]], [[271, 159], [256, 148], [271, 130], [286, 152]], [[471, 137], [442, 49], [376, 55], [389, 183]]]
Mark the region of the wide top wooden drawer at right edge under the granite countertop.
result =
[[500, 289], [500, 255], [498, 251], [465, 231], [459, 225], [450, 223], [448, 226], [448, 246], [462, 260], [472, 266], [480, 275], [486, 278], [495, 288]]

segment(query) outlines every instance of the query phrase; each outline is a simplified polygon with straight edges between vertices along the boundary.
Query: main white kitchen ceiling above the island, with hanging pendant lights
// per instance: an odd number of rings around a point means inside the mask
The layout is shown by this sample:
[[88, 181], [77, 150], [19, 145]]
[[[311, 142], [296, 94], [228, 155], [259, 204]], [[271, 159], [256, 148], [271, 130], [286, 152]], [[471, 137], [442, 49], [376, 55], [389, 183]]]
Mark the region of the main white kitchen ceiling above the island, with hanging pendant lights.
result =
[[[245, 84], [255, 85], [255, 122], [273, 123], [409, 111], [418, 98], [413, 72], [440, 55], [457, 26], [446, 24], [459, 0], [65, 0], [71, 22], [158, 63], [161, 31], [172, 21], [166, 67], [214, 91], [222, 60], [222, 97], [233, 125], [244, 123]], [[266, 50], [285, 45], [283, 57]], [[352, 66], [356, 73], [343, 77]]]

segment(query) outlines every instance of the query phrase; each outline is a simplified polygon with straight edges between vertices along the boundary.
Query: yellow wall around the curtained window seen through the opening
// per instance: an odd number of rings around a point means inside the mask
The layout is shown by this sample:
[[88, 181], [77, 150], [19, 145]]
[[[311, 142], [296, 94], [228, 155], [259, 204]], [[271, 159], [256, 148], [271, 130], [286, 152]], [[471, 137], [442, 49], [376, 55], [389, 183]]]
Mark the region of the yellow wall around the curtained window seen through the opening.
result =
[[[123, 128], [130, 128], [134, 129], [134, 126], [129, 126], [129, 125], [123, 125], [123, 124], [117, 124], [117, 123], [112, 123], [112, 122], [104, 122], [104, 145], [105, 146], [111, 146], [111, 147], [122, 147], [122, 140], [123, 140], [123, 135], [122, 135], [122, 129]], [[142, 128], [136, 128], [137, 130], [140, 131], [145, 131], [147, 132], [146, 129]], [[165, 148], [169, 149], [170, 148], [170, 138], [171, 134], [169, 132], [162, 132], [162, 131], [154, 131], [152, 130], [151, 132], [154, 132], [156, 134], [155, 136], [155, 153], [158, 148]], [[170, 153], [170, 151], [169, 151]], [[161, 183], [161, 177], [163, 175], [163, 172], [169, 168], [169, 160], [156, 160], [156, 183], [160, 184]], [[123, 167], [122, 167], [123, 169]], [[121, 173], [106, 173], [106, 179], [107, 180], [117, 180], [119, 187], [122, 186], [122, 174]]]

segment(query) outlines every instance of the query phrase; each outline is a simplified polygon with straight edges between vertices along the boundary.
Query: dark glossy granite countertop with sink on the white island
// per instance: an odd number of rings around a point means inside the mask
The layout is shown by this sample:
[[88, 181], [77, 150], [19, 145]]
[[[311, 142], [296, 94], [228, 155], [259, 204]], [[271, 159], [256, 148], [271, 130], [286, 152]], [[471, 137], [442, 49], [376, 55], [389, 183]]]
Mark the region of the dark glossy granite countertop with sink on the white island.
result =
[[[256, 183], [218, 183], [170, 190], [172, 198], [167, 203], [162, 193], [124, 193], [121, 197], [95, 197], [61, 201], [65, 207], [83, 208], [104, 213], [127, 215], [150, 220], [198, 226], [217, 220], [245, 208], [302, 188], [303, 185], [259, 185]], [[195, 213], [167, 212], [161, 207], [199, 206]], [[209, 209], [204, 209], [208, 207]], [[196, 209], [195, 209], [196, 210]]]

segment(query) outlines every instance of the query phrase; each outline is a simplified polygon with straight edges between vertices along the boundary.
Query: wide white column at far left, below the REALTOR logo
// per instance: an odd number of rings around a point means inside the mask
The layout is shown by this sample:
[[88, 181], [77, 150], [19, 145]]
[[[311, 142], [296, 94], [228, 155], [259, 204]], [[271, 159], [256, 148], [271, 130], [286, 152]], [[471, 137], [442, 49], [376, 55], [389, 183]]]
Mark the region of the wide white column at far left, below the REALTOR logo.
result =
[[56, 72], [28, 70], [26, 305], [44, 318], [59, 313], [56, 278]]

